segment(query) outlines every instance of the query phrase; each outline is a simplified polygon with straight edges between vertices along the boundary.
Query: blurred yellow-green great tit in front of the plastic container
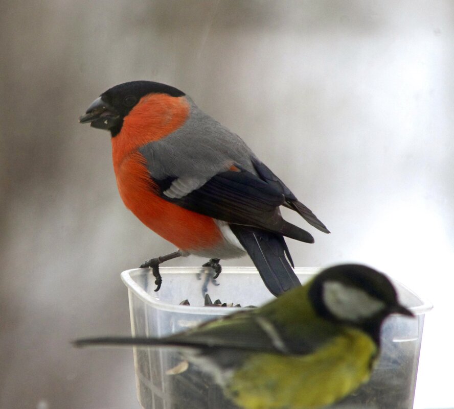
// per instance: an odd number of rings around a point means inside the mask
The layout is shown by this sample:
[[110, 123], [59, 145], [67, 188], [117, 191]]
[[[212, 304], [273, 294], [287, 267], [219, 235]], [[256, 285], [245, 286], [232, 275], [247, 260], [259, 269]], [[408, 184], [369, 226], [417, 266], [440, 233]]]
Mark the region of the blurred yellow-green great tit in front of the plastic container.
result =
[[390, 280], [360, 264], [323, 270], [255, 309], [165, 338], [93, 338], [86, 345], [175, 347], [245, 409], [316, 409], [366, 382], [390, 314], [412, 317]]

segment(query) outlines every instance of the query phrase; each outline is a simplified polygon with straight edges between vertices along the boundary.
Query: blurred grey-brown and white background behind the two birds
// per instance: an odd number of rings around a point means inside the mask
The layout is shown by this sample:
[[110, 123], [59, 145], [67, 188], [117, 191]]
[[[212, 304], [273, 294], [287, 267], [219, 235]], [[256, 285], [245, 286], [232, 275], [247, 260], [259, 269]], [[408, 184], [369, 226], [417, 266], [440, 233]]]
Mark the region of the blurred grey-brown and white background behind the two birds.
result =
[[137, 79], [190, 94], [328, 226], [288, 215], [315, 237], [288, 240], [297, 266], [366, 262], [434, 302], [415, 407], [452, 407], [453, 23], [450, 1], [3, 0], [0, 409], [139, 407], [129, 349], [69, 344], [128, 334], [121, 271], [173, 251], [77, 120]]

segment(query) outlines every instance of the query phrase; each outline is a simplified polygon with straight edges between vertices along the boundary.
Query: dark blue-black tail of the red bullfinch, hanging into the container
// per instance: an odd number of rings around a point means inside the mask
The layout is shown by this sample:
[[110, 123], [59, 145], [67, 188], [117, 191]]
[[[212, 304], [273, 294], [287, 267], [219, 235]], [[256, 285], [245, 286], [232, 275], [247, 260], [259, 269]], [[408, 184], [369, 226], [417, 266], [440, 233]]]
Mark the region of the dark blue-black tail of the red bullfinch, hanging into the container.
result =
[[271, 294], [279, 296], [301, 285], [281, 234], [240, 225], [230, 225], [230, 228], [252, 258]]

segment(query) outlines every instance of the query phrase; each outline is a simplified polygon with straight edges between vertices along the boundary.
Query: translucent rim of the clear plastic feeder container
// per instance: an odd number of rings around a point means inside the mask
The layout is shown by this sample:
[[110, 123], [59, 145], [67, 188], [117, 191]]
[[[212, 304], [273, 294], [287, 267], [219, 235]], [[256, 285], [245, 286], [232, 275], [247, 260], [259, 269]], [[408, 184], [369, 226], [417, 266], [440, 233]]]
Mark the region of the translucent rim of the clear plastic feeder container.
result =
[[[160, 267], [160, 271], [166, 275], [171, 274], [195, 274], [200, 272], [200, 267]], [[294, 269], [295, 273], [300, 274], [314, 274], [317, 271], [321, 270], [320, 267], [297, 267]], [[157, 299], [150, 297], [150, 295], [137, 283], [134, 281], [133, 277], [149, 272], [150, 269], [130, 269], [125, 270], [121, 273], [121, 280], [126, 285], [128, 290], [131, 290], [140, 300], [147, 304], [154, 304], [162, 310], [166, 311], [175, 311], [175, 312], [184, 312], [185, 314], [201, 314], [201, 315], [228, 315], [232, 312], [239, 311], [242, 309], [247, 309], [246, 307], [208, 307], [208, 306], [190, 306], [190, 305], [179, 305], [179, 304], [168, 304], [165, 302], [160, 302]], [[224, 267], [222, 269], [223, 275], [226, 274], [259, 274], [257, 269], [254, 267]], [[151, 276], [153, 277], [153, 276]], [[414, 291], [410, 290], [406, 285], [402, 284], [400, 281], [391, 278], [391, 280], [401, 287], [404, 290], [411, 293], [413, 296], [418, 298], [421, 301], [421, 305], [415, 307], [408, 307], [414, 315], [423, 315], [426, 312], [430, 311], [434, 306], [428, 300], [422, 299]]]

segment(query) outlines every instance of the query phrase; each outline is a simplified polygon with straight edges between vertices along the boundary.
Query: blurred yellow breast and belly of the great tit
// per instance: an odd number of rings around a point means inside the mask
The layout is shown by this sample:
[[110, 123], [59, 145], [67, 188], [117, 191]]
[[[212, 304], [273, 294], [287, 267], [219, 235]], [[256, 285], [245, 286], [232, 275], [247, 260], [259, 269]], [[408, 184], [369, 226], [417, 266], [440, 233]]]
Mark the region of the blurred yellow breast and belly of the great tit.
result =
[[367, 381], [377, 355], [372, 339], [347, 329], [329, 345], [302, 356], [254, 354], [228, 385], [246, 409], [316, 409]]

